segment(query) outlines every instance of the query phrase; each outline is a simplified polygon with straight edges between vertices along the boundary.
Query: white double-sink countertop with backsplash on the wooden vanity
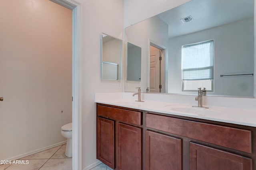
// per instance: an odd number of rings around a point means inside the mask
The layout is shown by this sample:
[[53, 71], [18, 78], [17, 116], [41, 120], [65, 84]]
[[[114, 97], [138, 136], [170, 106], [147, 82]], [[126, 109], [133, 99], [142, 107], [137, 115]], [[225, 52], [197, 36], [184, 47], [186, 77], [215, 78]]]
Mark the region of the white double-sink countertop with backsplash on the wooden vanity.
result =
[[[132, 97], [132, 93], [129, 93], [129, 92], [96, 93], [95, 102], [101, 103], [101, 104], [113, 105], [113, 106], [140, 109], [145, 111], [154, 111], [159, 113], [194, 117], [199, 119], [206, 119], [206, 120], [212, 120], [212, 121], [220, 121], [220, 122], [256, 127], [256, 109], [254, 109], [254, 107], [244, 109], [239, 107], [223, 107], [221, 105], [220, 107], [214, 106], [214, 105], [210, 106], [209, 104], [204, 105], [204, 103], [207, 104], [210, 102], [214, 102], [212, 101], [212, 99], [208, 99], [207, 101], [207, 98], [206, 98], [205, 99], [206, 102], [203, 103], [203, 106], [207, 106], [209, 108], [198, 108], [198, 107], [192, 107], [192, 106], [197, 106], [197, 101], [194, 101], [195, 96], [168, 95], [168, 94], [166, 94], [167, 96], [163, 96], [163, 95], [164, 94], [142, 94], [142, 100], [144, 102], [135, 102], [135, 100], [137, 100], [138, 97], [137, 96]], [[213, 100], [218, 100], [218, 101], [225, 100], [225, 99], [228, 100], [227, 98], [221, 98], [221, 99], [218, 99], [218, 97], [214, 97], [214, 98], [216, 99], [213, 99]], [[244, 99], [244, 100], [247, 100], [247, 99]], [[255, 103], [254, 99], [251, 99], [251, 100], [253, 100], [251, 102]], [[241, 101], [235, 101], [235, 102], [241, 102]], [[242, 101], [242, 102], [247, 102], [247, 101]], [[222, 105], [223, 105], [223, 102], [222, 102]], [[227, 103], [226, 105], [228, 106], [229, 104]]]

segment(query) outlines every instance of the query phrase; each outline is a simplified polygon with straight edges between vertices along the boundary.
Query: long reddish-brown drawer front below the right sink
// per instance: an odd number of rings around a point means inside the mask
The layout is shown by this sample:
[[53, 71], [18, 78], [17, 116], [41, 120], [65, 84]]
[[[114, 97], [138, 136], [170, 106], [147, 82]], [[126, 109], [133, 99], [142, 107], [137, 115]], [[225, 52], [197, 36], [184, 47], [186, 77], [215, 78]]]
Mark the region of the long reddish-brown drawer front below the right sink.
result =
[[252, 153], [251, 131], [146, 114], [146, 127]]

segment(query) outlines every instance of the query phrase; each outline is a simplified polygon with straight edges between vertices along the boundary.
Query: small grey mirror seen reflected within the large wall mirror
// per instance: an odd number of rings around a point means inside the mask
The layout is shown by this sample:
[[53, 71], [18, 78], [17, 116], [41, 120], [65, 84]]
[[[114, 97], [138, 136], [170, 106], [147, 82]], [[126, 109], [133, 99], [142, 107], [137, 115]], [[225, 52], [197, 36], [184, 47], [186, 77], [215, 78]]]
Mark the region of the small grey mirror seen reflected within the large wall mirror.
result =
[[141, 76], [141, 48], [127, 43], [127, 64], [126, 64], [126, 80], [140, 82]]

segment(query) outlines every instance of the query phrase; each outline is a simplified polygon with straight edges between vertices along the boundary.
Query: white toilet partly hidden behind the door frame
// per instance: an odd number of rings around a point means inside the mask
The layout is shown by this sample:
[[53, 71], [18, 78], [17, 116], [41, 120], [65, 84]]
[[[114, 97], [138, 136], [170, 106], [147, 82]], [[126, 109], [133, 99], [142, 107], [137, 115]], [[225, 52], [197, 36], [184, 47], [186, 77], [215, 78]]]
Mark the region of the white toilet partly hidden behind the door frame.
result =
[[68, 123], [61, 127], [61, 134], [67, 138], [65, 155], [72, 157], [72, 123]]

